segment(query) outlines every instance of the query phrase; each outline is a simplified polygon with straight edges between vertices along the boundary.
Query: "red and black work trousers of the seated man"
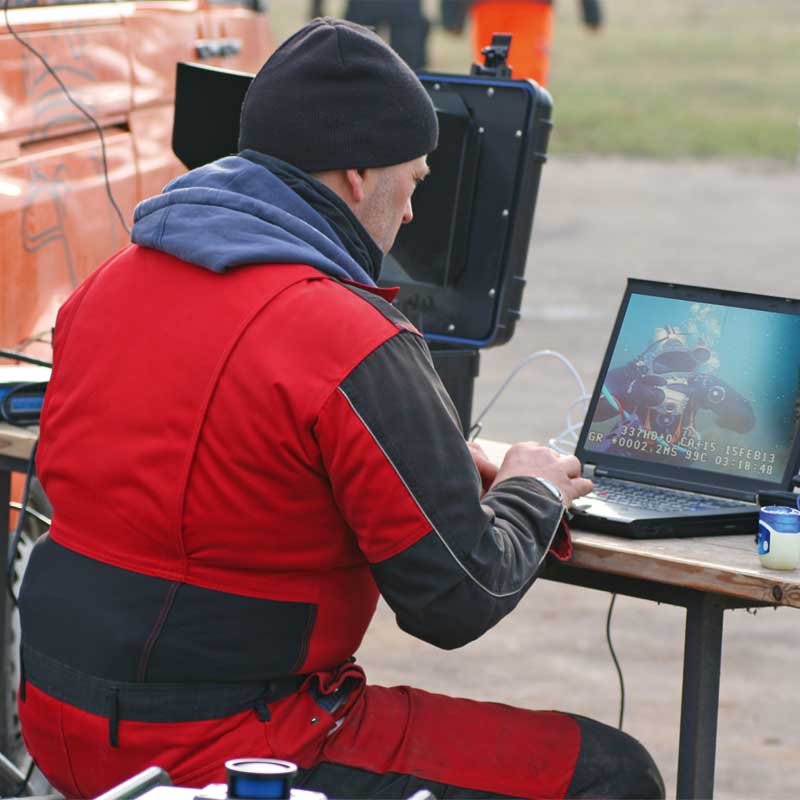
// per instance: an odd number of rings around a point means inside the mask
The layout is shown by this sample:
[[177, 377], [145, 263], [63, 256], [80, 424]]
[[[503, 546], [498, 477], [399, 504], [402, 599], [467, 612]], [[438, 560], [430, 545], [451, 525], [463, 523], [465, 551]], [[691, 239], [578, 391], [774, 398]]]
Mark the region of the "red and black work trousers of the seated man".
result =
[[[23, 653], [25, 743], [53, 786], [93, 797], [149, 765], [176, 785], [224, 781], [224, 761], [280, 757], [331, 798], [661, 798], [636, 740], [583, 717], [367, 686], [331, 673], [179, 686], [82, 675]], [[297, 684], [300, 682], [298, 688]], [[230, 712], [230, 713], [222, 713]]]

